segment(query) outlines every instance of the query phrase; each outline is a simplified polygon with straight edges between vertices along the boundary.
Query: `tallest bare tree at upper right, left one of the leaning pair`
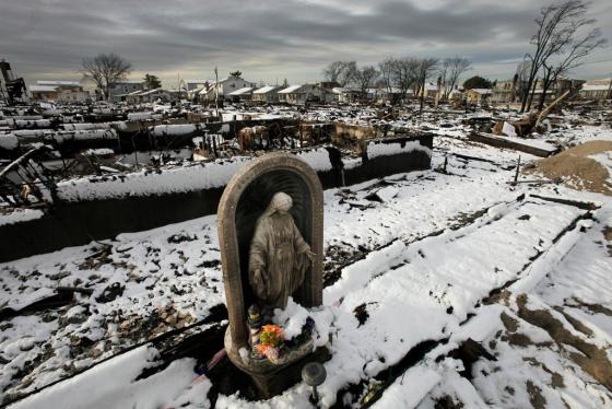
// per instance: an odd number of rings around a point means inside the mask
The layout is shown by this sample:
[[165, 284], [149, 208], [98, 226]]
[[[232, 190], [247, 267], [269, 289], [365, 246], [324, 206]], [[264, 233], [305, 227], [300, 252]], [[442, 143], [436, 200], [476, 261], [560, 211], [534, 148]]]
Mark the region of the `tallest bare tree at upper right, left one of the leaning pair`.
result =
[[[582, 0], [568, 0], [540, 10], [540, 15], [536, 19], [537, 31], [530, 42], [536, 46], [536, 50], [532, 55], [528, 55], [531, 61], [528, 89], [536, 89], [534, 81], [540, 69], [549, 58], [558, 54], [572, 42], [576, 27], [592, 23], [592, 20], [585, 19], [587, 9], [588, 3]], [[529, 109], [530, 105], [531, 100], [527, 95], [522, 100], [521, 112]]]

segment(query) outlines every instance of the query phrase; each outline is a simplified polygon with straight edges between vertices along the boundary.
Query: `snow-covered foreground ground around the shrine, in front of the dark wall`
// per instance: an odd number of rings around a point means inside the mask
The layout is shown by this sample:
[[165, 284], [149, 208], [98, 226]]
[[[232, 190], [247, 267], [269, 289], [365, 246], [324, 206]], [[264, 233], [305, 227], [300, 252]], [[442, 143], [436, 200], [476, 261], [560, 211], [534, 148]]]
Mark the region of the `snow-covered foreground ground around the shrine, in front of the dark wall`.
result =
[[[432, 171], [325, 192], [326, 288], [311, 313], [330, 335], [322, 406], [611, 407], [612, 199], [513, 186], [517, 152], [468, 142], [459, 125], [444, 133]], [[122, 292], [105, 302], [113, 283]], [[15, 311], [58, 287], [93, 291], [0, 323], [4, 402], [86, 370], [15, 408], [311, 407], [304, 384], [269, 401], [213, 398], [192, 358], [141, 376], [161, 360], [146, 340], [224, 303], [214, 215], [2, 264], [0, 284]]]

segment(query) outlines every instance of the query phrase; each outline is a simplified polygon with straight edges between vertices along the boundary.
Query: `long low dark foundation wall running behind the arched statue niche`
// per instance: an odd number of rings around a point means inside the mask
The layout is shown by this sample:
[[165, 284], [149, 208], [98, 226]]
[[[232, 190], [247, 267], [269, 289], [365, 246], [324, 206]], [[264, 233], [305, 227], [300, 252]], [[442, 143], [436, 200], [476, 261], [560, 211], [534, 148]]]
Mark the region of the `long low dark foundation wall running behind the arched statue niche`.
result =
[[[297, 154], [316, 170], [323, 188], [329, 189], [397, 173], [426, 170], [431, 165], [432, 148], [433, 136], [423, 135], [363, 141], [364, 153], [361, 159], [343, 157], [333, 147]], [[245, 159], [242, 161], [240, 165], [244, 165]], [[184, 191], [170, 187], [165, 192], [146, 189], [141, 192], [129, 189], [129, 194], [128, 190], [115, 194], [107, 191], [113, 188], [113, 183], [121, 186], [129, 184], [129, 179], [92, 183], [91, 188], [104, 190], [97, 196], [91, 192], [84, 196], [82, 192], [87, 190], [76, 186], [79, 189], [74, 191], [79, 195], [70, 199], [70, 195], [66, 194], [68, 190], [64, 190], [64, 199], [56, 202], [39, 218], [11, 224], [3, 224], [0, 219], [0, 237], [3, 237], [0, 261], [214, 214], [223, 189], [234, 172], [232, 170], [223, 174], [220, 176], [222, 178], [212, 177], [216, 182], [210, 185], [196, 185], [191, 189], [186, 187]], [[164, 180], [161, 175], [152, 174], [149, 177], [158, 177], [152, 179], [149, 186], [157, 186]], [[138, 185], [148, 186], [142, 179], [137, 179], [134, 186]]]

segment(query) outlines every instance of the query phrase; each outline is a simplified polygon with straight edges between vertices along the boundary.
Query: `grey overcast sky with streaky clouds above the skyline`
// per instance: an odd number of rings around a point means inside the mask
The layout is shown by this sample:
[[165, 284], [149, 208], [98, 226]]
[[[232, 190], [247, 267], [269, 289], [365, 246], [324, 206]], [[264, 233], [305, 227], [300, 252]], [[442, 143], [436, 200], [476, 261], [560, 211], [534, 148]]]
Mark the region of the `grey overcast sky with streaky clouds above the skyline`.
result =
[[[386, 56], [473, 61], [471, 74], [505, 79], [530, 50], [539, 0], [1, 0], [0, 58], [25, 77], [79, 80], [84, 57], [114, 51], [165, 86], [239, 69], [248, 81], [317, 81], [333, 60]], [[612, 1], [590, 14], [612, 40]], [[612, 75], [612, 46], [576, 77]]]

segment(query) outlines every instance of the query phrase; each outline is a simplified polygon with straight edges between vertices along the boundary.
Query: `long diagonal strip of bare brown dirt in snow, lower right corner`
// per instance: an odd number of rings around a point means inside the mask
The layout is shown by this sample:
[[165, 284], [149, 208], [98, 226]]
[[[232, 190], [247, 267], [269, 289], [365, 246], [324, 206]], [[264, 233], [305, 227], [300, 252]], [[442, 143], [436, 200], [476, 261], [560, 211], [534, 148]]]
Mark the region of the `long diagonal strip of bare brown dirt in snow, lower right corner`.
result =
[[612, 362], [609, 361], [604, 348], [600, 349], [569, 332], [549, 311], [527, 308], [527, 295], [525, 294], [517, 297], [517, 305], [519, 317], [544, 329], [560, 347], [563, 348], [565, 343], [576, 348], [580, 353], [568, 351], [568, 357], [608, 390], [612, 392]]

